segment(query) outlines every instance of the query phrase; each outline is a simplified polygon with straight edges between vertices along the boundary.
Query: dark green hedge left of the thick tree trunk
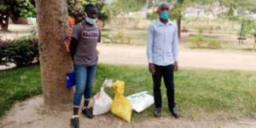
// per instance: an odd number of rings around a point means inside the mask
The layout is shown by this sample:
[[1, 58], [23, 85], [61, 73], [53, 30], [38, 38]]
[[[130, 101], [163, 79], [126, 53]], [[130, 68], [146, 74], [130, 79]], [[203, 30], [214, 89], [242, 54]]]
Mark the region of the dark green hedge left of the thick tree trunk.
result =
[[24, 67], [38, 62], [38, 39], [34, 37], [19, 38], [0, 45], [2, 64], [15, 63], [16, 67]]

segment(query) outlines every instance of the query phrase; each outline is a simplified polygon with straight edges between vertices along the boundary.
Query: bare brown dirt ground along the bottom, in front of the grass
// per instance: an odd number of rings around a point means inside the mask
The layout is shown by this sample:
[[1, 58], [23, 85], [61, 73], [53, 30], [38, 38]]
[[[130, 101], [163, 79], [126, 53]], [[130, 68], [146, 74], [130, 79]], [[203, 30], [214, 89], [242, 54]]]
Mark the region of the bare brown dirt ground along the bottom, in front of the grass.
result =
[[[17, 102], [0, 119], [1, 128], [68, 128], [72, 111], [46, 111], [43, 96], [33, 97], [25, 102]], [[110, 113], [86, 119], [80, 115], [81, 128], [255, 128], [255, 119], [241, 120], [193, 120], [170, 118], [147, 118], [132, 120], [131, 123], [116, 118]]]

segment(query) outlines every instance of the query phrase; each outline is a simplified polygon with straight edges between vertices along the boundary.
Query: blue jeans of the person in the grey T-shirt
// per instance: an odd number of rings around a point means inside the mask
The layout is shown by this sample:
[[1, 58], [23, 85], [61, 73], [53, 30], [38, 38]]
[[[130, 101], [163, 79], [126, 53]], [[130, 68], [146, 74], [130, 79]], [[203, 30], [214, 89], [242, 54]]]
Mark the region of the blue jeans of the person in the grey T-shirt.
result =
[[73, 107], [79, 108], [82, 96], [89, 101], [92, 94], [92, 85], [96, 77], [96, 65], [91, 67], [74, 65], [76, 89], [73, 98]]

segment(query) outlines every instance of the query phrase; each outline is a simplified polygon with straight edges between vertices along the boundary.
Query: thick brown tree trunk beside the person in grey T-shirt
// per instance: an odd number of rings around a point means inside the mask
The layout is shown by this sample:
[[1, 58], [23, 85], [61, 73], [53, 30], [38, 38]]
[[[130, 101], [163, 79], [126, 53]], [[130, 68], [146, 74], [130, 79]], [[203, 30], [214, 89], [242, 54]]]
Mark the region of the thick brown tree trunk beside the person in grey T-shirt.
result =
[[39, 54], [44, 104], [51, 109], [72, 107], [73, 90], [65, 88], [72, 61], [63, 45], [67, 36], [67, 1], [36, 0]]

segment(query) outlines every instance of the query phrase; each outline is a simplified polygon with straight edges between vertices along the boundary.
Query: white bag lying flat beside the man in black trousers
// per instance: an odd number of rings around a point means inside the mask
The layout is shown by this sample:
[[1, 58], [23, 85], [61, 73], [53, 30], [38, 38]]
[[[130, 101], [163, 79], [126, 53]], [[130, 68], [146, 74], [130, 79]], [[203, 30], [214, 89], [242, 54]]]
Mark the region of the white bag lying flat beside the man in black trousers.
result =
[[143, 112], [144, 109], [149, 108], [154, 103], [154, 97], [148, 91], [127, 96], [127, 99], [131, 102], [132, 109], [137, 113]]

